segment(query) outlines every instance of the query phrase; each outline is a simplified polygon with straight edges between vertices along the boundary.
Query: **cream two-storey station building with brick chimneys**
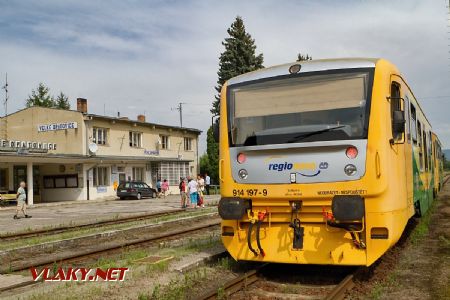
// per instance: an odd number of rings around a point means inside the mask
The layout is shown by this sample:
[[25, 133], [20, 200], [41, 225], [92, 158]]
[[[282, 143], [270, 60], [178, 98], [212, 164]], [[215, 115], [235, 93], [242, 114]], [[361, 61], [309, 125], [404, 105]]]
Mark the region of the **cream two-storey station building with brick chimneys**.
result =
[[0, 194], [28, 186], [28, 203], [90, 200], [115, 195], [126, 180], [155, 187], [197, 174], [201, 131], [88, 113], [30, 107], [0, 118]]

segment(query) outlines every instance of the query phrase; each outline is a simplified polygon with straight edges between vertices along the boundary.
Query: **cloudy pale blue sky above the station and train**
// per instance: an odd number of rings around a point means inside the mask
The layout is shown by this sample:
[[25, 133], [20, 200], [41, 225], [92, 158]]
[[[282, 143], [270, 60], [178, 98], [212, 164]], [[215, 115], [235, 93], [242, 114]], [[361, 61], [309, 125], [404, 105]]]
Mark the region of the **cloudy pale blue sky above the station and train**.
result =
[[[226, 30], [239, 15], [264, 65], [382, 57], [406, 77], [450, 148], [448, 0], [7, 1], [0, 0], [0, 82], [8, 113], [43, 82], [88, 99], [90, 113], [206, 131]], [[0, 99], [4, 93], [0, 94]], [[0, 107], [0, 114], [4, 110]], [[206, 149], [205, 134], [200, 151]]]

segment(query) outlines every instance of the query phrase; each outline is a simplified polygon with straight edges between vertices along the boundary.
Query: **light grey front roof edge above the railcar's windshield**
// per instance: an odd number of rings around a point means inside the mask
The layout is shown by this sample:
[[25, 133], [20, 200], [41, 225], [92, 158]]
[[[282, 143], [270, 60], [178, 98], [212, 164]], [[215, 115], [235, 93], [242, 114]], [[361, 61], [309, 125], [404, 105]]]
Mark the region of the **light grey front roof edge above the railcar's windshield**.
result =
[[295, 64], [301, 65], [301, 73], [317, 72], [337, 69], [355, 69], [355, 68], [375, 68], [378, 58], [338, 58], [338, 59], [317, 59], [294, 61], [287, 64], [277, 65], [269, 68], [263, 68], [253, 72], [245, 73], [228, 80], [228, 85], [237, 84], [246, 81], [253, 81], [262, 78], [276, 77], [289, 74], [289, 67]]

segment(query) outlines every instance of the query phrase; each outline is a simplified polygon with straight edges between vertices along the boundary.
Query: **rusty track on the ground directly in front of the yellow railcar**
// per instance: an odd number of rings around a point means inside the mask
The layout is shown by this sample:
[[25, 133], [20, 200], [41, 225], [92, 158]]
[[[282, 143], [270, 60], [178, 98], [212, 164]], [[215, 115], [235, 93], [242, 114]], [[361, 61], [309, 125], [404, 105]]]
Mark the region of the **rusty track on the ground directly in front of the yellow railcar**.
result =
[[[242, 274], [241, 276], [238, 276], [228, 282], [226, 282], [222, 289], [220, 290], [221, 293], [224, 293], [228, 298], [227, 299], [233, 299], [233, 295], [238, 293], [239, 291], [247, 290], [249, 294], [252, 294], [252, 285], [255, 284], [258, 281], [263, 281], [264, 279], [261, 279], [261, 272], [262, 270], [267, 266], [268, 264], [264, 264], [261, 267], [251, 270], [249, 272], [246, 272]], [[345, 276], [339, 284], [333, 286], [331, 288], [331, 291], [329, 290], [329, 286], [326, 286], [327, 292], [323, 294], [323, 299], [326, 300], [335, 300], [335, 299], [344, 299], [345, 294], [348, 290], [352, 289], [355, 284], [353, 282], [353, 275], [356, 273], [353, 272], [347, 276]], [[321, 286], [317, 286], [318, 289], [321, 288]], [[261, 291], [258, 293], [255, 293], [255, 297], [262, 296], [263, 299], [317, 299], [315, 297], [311, 297], [309, 294], [283, 294], [283, 293], [273, 293], [268, 292], [267, 295], [261, 295]], [[219, 298], [219, 290], [211, 290], [206, 292], [205, 294], [201, 295], [198, 299], [201, 300], [213, 300]], [[319, 297], [322, 298], [322, 297]], [[242, 297], [237, 297], [237, 299], [246, 299]], [[249, 298], [250, 299], [250, 298]], [[253, 298], [251, 298], [253, 299]]]

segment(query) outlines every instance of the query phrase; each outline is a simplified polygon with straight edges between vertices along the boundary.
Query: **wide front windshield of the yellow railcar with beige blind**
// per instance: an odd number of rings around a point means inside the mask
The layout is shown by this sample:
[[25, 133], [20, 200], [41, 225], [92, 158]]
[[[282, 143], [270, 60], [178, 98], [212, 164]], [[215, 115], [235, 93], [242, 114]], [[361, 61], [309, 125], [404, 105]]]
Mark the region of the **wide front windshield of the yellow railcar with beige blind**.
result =
[[231, 145], [367, 138], [370, 78], [344, 70], [230, 86]]

